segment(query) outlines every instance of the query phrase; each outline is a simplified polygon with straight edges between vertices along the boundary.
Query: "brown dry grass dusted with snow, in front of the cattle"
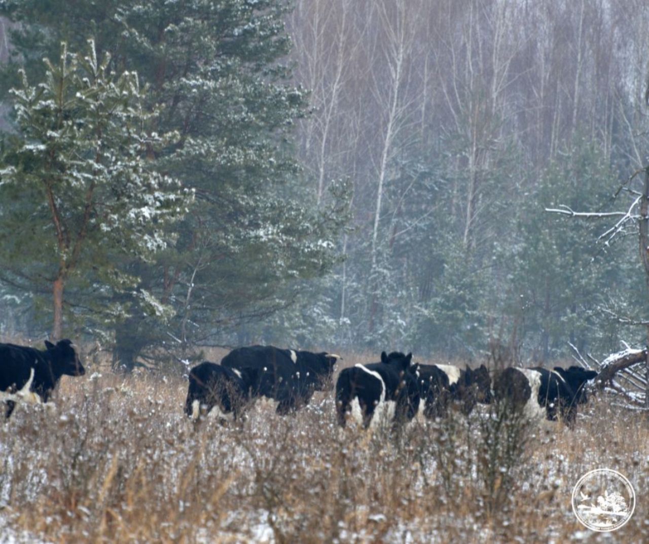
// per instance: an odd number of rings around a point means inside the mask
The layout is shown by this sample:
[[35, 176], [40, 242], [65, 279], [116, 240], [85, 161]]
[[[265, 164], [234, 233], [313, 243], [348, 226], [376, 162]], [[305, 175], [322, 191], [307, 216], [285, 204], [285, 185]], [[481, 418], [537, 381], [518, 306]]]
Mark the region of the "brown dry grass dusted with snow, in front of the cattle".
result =
[[[241, 427], [195, 429], [182, 378], [95, 370], [63, 378], [55, 412], [21, 408], [0, 425], [0, 542], [6, 528], [75, 544], [649, 541], [649, 421], [604, 398], [576, 430], [524, 427], [506, 453], [478, 414], [401, 436], [341, 432], [331, 394], [295, 416], [256, 406]], [[596, 467], [637, 494], [612, 538], [570, 506]]]

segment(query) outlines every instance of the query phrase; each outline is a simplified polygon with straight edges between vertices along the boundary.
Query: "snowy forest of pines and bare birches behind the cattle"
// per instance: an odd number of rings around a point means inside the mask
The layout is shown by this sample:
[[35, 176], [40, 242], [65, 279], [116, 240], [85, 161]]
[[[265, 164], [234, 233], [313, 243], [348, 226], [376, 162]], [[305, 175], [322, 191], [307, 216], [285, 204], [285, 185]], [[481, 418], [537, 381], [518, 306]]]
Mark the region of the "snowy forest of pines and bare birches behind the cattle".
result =
[[3, 336], [97, 341], [127, 368], [206, 345], [548, 362], [644, 343], [635, 223], [607, 243], [546, 210], [606, 217], [640, 190], [646, 3], [0, 14]]

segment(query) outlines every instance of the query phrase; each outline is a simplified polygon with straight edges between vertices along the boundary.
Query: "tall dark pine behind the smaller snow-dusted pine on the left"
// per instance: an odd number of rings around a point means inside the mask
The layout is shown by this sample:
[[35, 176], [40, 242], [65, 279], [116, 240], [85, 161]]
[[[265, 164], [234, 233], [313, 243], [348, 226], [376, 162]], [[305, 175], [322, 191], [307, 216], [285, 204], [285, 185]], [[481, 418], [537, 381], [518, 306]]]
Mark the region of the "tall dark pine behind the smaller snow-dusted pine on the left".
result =
[[[184, 347], [263, 318], [290, 303], [288, 282], [336, 264], [332, 239], [345, 194], [317, 210], [291, 142], [308, 93], [282, 63], [291, 46], [283, 22], [288, 2], [127, 0], [101, 10], [90, 0], [74, 10], [62, 0], [49, 4], [5, 2], [5, 13], [23, 23], [14, 43], [25, 68], [36, 69], [29, 59], [52, 39], [95, 33], [115, 66], [136, 69], [149, 84], [147, 105], [160, 109], [151, 130], [178, 133], [151, 158], [196, 191], [192, 214], [175, 226], [174, 247], [154, 266], [123, 262], [174, 317], [161, 327], [140, 313], [117, 328], [122, 364], [132, 367], [143, 349], [171, 337]], [[48, 15], [57, 8], [66, 17]], [[29, 33], [39, 39], [25, 39]]]

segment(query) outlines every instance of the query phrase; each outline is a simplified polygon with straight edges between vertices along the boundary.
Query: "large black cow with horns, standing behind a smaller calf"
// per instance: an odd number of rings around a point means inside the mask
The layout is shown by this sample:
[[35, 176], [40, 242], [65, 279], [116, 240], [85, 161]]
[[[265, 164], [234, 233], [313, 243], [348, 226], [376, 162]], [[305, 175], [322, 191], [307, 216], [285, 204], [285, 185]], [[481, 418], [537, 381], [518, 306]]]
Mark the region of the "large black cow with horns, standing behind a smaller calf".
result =
[[288, 414], [311, 400], [314, 391], [332, 388], [332, 377], [340, 356], [274, 346], [253, 345], [233, 349], [221, 365], [238, 371], [256, 370], [251, 395], [277, 402], [278, 414]]

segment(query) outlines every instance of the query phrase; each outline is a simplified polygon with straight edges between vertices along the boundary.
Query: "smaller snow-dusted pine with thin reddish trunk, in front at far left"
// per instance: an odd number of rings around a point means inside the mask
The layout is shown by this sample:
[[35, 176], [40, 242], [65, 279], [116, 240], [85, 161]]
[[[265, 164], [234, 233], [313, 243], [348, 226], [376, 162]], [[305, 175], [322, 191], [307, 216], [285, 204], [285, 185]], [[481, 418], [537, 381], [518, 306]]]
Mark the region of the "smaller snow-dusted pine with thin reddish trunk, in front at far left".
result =
[[[61, 338], [64, 311], [77, 317], [120, 317], [125, 308], [88, 304], [88, 293], [133, 290], [136, 278], [119, 258], [151, 260], [170, 238], [165, 223], [187, 211], [192, 192], [151, 169], [147, 149], [169, 138], [147, 134], [145, 91], [138, 75], [108, 69], [110, 58], [67, 51], [45, 60], [45, 80], [12, 90], [18, 138], [1, 172], [0, 252], [5, 278], [26, 290], [51, 292], [52, 335]], [[66, 304], [66, 288], [82, 296]], [[85, 286], [85, 288], [82, 288]], [[138, 296], [151, 306], [153, 297]]]

